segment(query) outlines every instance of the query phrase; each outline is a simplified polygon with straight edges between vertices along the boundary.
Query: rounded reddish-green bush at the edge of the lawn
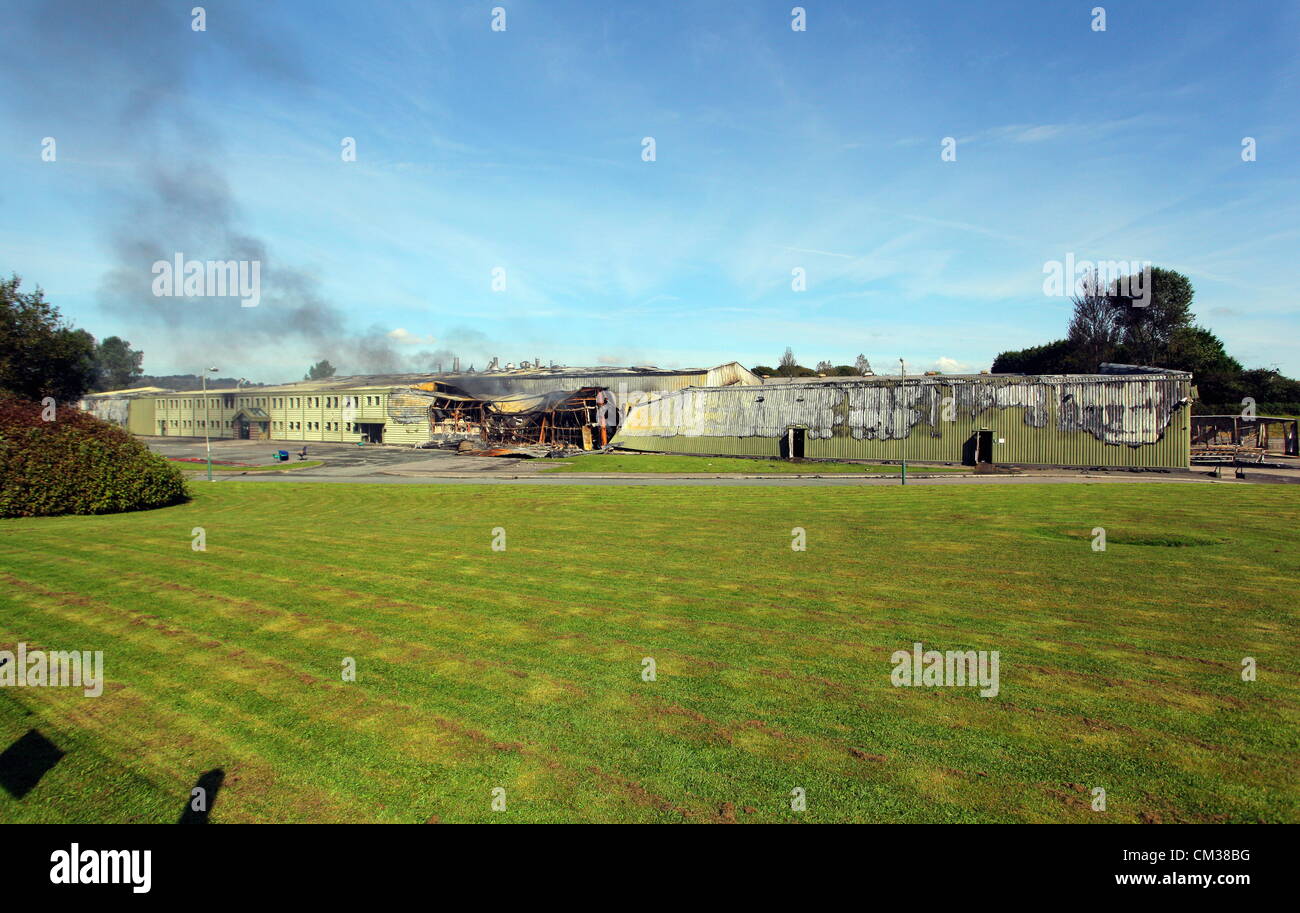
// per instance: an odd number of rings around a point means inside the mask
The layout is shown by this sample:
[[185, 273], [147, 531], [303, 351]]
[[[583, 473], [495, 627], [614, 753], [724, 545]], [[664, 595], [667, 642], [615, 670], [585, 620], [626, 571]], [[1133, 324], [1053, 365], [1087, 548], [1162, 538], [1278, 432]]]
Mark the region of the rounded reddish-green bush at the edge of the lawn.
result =
[[39, 403], [0, 394], [0, 516], [117, 514], [185, 501], [181, 471], [72, 406], [53, 421]]

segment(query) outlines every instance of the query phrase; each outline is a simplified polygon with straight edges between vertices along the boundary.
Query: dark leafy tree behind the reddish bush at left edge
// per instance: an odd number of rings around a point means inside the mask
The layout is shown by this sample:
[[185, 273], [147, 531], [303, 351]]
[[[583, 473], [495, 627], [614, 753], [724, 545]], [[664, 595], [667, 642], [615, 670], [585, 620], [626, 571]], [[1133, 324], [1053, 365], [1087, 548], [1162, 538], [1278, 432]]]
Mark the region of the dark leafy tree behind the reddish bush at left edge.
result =
[[95, 382], [95, 337], [69, 326], [46, 293], [0, 280], [0, 390], [29, 401], [79, 399]]

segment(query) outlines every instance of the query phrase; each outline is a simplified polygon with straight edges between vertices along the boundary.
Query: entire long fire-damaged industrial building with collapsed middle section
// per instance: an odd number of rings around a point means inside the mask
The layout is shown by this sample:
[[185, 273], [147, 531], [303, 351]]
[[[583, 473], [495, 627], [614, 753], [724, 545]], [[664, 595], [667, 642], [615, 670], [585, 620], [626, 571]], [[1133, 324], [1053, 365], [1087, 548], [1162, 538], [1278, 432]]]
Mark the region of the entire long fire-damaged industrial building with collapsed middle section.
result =
[[1191, 459], [1186, 372], [764, 380], [734, 362], [530, 367], [124, 390], [83, 402], [138, 434], [181, 437], [1128, 468], [1186, 468]]

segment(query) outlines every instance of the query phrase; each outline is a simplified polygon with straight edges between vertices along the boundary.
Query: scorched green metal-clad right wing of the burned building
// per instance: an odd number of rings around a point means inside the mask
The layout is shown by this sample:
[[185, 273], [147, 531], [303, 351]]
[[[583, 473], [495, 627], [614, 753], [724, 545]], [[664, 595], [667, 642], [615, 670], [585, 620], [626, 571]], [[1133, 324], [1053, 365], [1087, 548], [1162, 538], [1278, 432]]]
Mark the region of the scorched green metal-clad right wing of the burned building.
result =
[[614, 443], [734, 456], [1187, 467], [1191, 375], [1106, 367], [682, 390], [630, 410]]

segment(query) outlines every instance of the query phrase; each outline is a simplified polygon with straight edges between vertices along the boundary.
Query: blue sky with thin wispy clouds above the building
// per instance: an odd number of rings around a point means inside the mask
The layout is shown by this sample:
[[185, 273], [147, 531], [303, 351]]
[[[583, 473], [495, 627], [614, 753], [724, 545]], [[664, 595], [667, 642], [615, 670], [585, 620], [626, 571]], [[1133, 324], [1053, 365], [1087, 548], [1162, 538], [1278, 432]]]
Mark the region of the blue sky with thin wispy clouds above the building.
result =
[[[1063, 334], [1043, 271], [1072, 255], [1187, 273], [1228, 351], [1300, 375], [1300, 5], [814, 0], [796, 33], [789, 1], [221, 0], [195, 33], [196, 3], [20, 3], [0, 69], [0, 269], [150, 373], [377, 367], [268, 332], [303, 289], [411, 367], [971, 371]], [[266, 300], [124, 293], [142, 225], [255, 242]]]

